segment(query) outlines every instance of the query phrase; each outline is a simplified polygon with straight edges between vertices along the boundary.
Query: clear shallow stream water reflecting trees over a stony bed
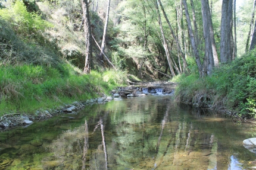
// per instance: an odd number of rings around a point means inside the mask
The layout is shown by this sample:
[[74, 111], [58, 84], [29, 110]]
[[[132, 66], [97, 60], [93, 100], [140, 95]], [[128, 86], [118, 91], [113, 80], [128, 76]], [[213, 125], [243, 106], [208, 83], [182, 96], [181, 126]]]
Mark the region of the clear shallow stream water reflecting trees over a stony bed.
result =
[[61, 116], [0, 133], [0, 169], [255, 166], [255, 154], [242, 146], [256, 136], [254, 124], [178, 105], [170, 96], [111, 101]]

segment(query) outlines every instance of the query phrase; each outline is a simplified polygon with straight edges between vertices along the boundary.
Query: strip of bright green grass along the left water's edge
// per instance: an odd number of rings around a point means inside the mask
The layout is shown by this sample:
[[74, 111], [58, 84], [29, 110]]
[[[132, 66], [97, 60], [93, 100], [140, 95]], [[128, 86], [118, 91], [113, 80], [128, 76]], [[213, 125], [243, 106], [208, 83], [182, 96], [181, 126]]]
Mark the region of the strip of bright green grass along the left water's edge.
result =
[[39, 108], [85, 101], [108, 94], [114, 86], [126, 83], [124, 72], [92, 71], [84, 75], [69, 64], [57, 68], [0, 66], [0, 76], [0, 116], [7, 113], [33, 114]]

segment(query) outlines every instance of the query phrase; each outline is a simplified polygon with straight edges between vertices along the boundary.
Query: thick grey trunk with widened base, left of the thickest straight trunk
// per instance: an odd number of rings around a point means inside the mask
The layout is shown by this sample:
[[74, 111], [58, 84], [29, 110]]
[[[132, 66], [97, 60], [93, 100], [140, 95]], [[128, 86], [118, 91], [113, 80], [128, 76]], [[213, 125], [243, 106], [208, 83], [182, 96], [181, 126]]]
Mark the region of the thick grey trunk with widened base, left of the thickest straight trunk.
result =
[[201, 10], [202, 10], [202, 24], [204, 31], [205, 40], [205, 57], [204, 57], [204, 68], [207, 68], [207, 75], [211, 75], [214, 68], [213, 60], [213, 49], [211, 46], [211, 36], [210, 36], [210, 8], [208, 0], [201, 0]]

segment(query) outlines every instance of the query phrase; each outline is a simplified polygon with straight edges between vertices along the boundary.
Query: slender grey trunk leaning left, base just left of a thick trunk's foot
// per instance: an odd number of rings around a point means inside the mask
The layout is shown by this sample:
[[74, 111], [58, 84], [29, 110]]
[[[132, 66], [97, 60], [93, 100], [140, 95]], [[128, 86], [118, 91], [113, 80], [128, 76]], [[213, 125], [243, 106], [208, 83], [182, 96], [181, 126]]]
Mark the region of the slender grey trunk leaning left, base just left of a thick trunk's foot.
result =
[[191, 19], [189, 17], [189, 12], [188, 12], [188, 5], [186, 0], [183, 0], [183, 5], [185, 7], [185, 12], [186, 12], [186, 18], [188, 21], [188, 28], [189, 28], [189, 37], [191, 39], [191, 45], [193, 48], [193, 53], [195, 54], [195, 60], [196, 60], [196, 65], [198, 66], [198, 71], [199, 71], [199, 75], [201, 77], [205, 76], [205, 70], [202, 68], [201, 62], [200, 62], [200, 56], [199, 56], [199, 52], [198, 52], [198, 44], [195, 43], [195, 37], [193, 36], [193, 31], [192, 31], [192, 27], [191, 27]]

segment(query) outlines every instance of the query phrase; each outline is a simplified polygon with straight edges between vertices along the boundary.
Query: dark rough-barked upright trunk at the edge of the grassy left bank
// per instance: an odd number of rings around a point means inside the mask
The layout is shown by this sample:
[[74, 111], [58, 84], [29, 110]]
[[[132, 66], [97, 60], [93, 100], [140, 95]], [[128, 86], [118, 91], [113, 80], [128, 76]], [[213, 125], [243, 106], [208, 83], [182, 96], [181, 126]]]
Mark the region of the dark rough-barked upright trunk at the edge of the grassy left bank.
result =
[[82, 0], [82, 9], [83, 9], [83, 18], [84, 18], [84, 30], [85, 30], [85, 44], [86, 44], [86, 52], [85, 52], [85, 69], [84, 73], [90, 73], [90, 64], [92, 60], [92, 34], [90, 32], [90, 15], [89, 15], [89, 7], [88, 1]]

